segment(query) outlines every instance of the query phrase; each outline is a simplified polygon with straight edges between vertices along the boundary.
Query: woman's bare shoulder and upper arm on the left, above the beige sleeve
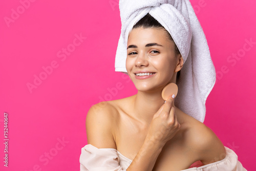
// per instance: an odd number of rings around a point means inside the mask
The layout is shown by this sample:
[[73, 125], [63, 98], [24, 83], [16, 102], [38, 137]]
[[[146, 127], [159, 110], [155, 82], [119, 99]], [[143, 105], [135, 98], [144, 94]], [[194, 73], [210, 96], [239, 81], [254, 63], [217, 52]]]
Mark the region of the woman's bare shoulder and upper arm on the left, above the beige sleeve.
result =
[[124, 99], [102, 101], [91, 106], [86, 117], [88, 144], [98, 148], [116, 148], [115, 130]]

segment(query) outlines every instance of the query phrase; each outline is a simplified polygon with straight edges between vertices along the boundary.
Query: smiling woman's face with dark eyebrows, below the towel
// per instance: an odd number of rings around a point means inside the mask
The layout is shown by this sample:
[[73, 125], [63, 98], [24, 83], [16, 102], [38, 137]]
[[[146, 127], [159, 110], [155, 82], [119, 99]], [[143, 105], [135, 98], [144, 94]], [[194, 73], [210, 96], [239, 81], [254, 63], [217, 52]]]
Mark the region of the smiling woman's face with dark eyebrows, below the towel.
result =
[[162, 90], [167, 83], [176, 82], [182, 65], [183, 59], [175, 53], [175, 44], [164, 29], [141, 27], [131, 31], [126, 70], [138, 91]]

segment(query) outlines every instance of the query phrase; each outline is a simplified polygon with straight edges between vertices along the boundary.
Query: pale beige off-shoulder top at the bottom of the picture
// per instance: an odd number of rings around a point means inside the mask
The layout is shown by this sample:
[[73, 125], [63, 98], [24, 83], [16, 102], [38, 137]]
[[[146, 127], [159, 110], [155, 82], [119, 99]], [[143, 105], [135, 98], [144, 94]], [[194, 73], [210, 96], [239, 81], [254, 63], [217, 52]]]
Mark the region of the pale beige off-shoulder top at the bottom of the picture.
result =
[[[226, 157], [223, 160], [181, 171], [247, 171], [238, 161], [238, 156], [225, 146]], [[125, 171], [132, 160], [123, 156], [115, 148], [97, 148], [91, 144], [82, 147], [80, 171]]]

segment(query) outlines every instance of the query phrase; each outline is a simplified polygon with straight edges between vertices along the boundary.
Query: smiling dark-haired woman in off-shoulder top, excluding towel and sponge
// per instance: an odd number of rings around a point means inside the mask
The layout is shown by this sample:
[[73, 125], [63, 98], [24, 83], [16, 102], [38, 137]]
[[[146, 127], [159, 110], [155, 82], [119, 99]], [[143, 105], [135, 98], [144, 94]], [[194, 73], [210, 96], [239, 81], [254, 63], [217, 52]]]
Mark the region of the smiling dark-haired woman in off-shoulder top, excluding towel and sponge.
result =
[[184, 170], [195, 162], [201, 170], [245, 170], [207, 126], [175, 105], [175, 95], [162, 99], [184, 67], [170, 33], [147, 13], [125, 45], [126, 71], [138, 93], [91, 107], [81, 170]]

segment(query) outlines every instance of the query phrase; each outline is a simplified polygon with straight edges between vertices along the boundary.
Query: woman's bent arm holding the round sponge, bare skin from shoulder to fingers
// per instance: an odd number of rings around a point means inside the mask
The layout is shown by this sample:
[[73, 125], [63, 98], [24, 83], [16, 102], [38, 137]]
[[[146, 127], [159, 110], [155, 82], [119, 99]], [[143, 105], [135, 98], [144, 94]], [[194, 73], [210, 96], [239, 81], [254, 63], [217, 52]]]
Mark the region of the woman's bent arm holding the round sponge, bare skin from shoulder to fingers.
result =
[[[164, 144], [180, 129], [175, 108], [172, 107], [173, 101], [174, 99], [169, 97], [154, 115], [145, 141], [127, 171], [152, 170]], [[96, 104], [87, 114], [88, 144], [98, 148], [116, 148], [113, 125], [117, 113], [108, 108]]]

